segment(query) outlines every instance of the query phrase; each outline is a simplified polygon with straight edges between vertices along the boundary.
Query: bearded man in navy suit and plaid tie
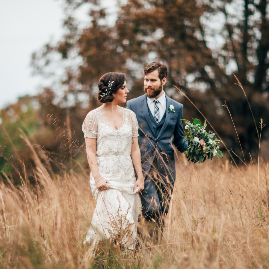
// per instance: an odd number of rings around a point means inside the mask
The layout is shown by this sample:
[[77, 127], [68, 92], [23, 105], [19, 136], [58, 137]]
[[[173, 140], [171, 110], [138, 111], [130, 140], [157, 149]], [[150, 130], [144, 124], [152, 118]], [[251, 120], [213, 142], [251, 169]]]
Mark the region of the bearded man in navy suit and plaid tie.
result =
[[141, 193], [142, 213], [163, 230], [169, 201], [175, 183], [175, 155], [173, 145], [183, 152], [183, 105], [165, 95], [167, 67], [152, 62], [144, 69], [143, 96], [127, 101], [139, 123], [139, 147], [145, 176]]

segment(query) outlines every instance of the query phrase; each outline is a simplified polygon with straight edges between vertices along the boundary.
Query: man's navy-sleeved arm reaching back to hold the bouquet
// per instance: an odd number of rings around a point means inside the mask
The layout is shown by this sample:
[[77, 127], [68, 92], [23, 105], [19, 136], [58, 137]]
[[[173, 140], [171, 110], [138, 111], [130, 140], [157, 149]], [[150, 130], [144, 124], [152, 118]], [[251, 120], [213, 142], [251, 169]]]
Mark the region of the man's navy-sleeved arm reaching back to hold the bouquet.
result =
[[178, 151], [181, 153], [185, 151], [188, 147], [188, 141], [183, 141], [184, 138], [184, 129], [183, 129], [183, 105], [181, 104], [181, 108], [179, 111], [179, 116], [177, 119], [177, 124], [174, 130], [174, 140], [173, 143]]

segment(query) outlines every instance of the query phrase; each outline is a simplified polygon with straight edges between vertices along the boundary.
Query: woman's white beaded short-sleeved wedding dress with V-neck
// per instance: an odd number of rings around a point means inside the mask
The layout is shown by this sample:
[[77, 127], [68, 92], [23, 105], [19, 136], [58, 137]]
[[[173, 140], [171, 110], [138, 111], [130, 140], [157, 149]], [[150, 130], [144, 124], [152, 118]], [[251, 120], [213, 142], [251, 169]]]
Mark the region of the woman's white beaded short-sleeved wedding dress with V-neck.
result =
[[99, 108], [90, 111], [82, 125], [84, 137], [96, 139], [96, 159], [100, 175], [109, 189], [99, 192], [90, 173], [90, 185], [97, 204], [86, 242], [116, 239], [127, 248], [134, 247], [139, 196], [133, 191], [136, 178], [130, 157], [132, 137], [138, 136], [134, 112], [122, 108], [123, 122], [116, 130]]

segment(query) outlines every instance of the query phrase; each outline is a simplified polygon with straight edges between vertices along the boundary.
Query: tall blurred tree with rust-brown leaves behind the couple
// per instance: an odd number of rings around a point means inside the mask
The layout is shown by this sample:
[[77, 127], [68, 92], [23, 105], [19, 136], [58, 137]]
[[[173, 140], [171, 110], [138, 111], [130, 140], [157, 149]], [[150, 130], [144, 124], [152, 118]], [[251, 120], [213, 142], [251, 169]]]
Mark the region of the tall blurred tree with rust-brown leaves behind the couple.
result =
[[[66, 1], [66, 10], [74, 11], [85, 2], [91, 4], [89, 27], [79, 29], [68, 15], [63, 40], [33, 54], [33, 66], [40, 72], [52, 52], [60, 53], [63, 62], [74, 54], [80, 57], [77, 70], [66, 68], [62, 100], [72, 94], [76, 104], [79, 95], [86, 94], [89, 109], [96, 107], [98, 78], [109, 71], [125, 72], [132, 86], [129, 96], [136, 97], [142, 94], [145, 64], [162, 60], [169, 67], [166, 93], [183, 102], [185, 118], [201, 119], [201, 115], [173, 85], [183, 89], [228, 148], [242, 157], [233, 123], [223, 108], [226, 101], [244, 153], [256, 157], [256, 125], [260, 117], [267, 121], [269, 107], [268, 0], [118, 1], [113, 25], [107, 23], [108, 14], [97, 1]], [[232, 72], [245, 93], [234, 85]]]

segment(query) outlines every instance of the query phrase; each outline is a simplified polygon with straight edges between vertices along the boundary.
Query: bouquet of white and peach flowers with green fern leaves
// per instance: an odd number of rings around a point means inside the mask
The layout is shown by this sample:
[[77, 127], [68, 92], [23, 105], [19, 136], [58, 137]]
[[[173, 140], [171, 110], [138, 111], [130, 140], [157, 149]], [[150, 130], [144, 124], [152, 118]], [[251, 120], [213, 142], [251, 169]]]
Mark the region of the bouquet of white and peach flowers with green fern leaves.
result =
[[206, 132], [206, 121], [204, 124], [200, 120], [193, 119], [193, 124], [188, 120], [185, 122], [184, 139], [188, 139], [188, 148], [185, 150], [187, 160], [194, 163], [203, 163], [206, 158], [212, 160], [213, 156], [223, 157], [219, 150], [218, 139], [213, 139], [215, 133], [212, 131]]

